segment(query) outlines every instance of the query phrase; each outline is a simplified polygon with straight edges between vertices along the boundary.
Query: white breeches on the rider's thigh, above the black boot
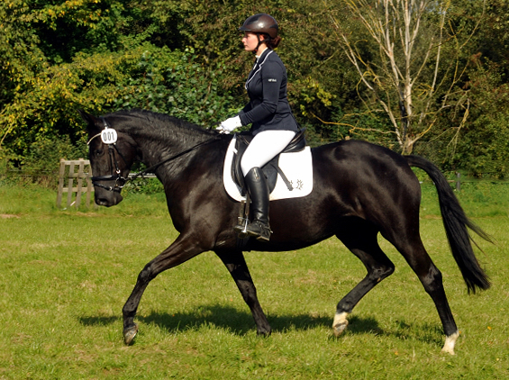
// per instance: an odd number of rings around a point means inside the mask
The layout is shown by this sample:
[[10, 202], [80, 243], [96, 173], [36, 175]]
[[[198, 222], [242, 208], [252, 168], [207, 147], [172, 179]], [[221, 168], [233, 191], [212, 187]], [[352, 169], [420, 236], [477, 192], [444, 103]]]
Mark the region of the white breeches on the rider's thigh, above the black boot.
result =
[[295, 131], [261, 131], [253, 137], [241, 159], [241, 169], [246, 176], [253, 167], [263, 167], [275, 158], [295, 137]]

